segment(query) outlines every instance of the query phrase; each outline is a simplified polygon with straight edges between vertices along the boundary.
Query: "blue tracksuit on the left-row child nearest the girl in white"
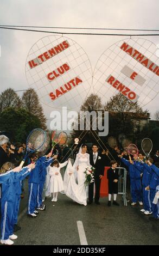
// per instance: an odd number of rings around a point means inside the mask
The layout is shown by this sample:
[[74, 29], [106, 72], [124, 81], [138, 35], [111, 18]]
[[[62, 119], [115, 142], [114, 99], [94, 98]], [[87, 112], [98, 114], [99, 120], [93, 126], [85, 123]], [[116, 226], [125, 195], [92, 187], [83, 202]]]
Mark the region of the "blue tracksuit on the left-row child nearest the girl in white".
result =
[[46, 168], [50, 165], [50, 163], [53, 162], [53, 158], [47, 159], [46, 156], [43, 156], [39, 160], [40, 160], [40, 168], [39, 168], [40, 183], [37, 191], [36, 208], [39, 208], [42, 205], [42, 192], [43, 192], [43, 186], [44, 186], [44, 182], [46, 180], [46, 175], [47, 175]]

